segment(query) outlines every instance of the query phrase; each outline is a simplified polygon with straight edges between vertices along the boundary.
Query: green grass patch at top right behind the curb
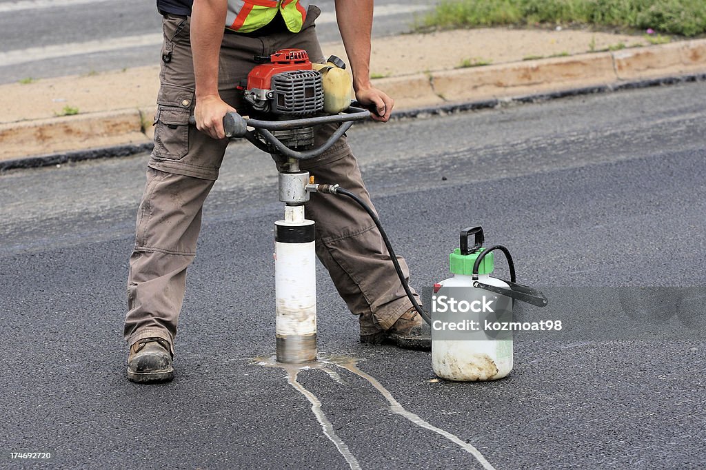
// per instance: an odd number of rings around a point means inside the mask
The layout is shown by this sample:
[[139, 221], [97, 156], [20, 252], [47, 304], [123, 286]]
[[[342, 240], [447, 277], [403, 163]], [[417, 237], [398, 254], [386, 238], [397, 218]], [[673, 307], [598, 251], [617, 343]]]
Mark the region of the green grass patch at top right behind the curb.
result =
[[704, 0], [441, 0], [417, 29], [579, 23], [695, 36], [706, 32]]

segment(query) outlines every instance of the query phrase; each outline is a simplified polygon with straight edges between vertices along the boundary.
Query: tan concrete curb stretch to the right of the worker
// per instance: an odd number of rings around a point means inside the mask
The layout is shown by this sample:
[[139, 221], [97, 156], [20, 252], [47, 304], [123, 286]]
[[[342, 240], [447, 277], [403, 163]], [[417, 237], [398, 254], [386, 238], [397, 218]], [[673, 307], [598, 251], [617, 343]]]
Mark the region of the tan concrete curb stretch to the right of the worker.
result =
[[554, 59], [431, 71], [382, 78], [376, 85], [402, 104], [445, 102], [537, 94], [561, 88], [586, 88], [626, 80], [680, 76], [706, 71], [706, 40], [596, 52]]

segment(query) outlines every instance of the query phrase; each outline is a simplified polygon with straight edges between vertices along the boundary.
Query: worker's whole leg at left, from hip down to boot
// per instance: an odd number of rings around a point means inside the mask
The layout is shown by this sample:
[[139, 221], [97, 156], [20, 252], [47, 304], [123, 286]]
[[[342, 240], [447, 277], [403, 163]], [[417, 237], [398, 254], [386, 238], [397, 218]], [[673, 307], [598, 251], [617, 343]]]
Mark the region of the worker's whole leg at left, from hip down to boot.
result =
[[[196, 254], [202, 206], [227, 146], [227, 140], [213, 140], [189, 126], [195, 105], [189, 18], [167, 16], [163, 26], [155, 149], [138, 210], [124, 325], [130, 346], [128, 378], [143, 382], [172, 378], [186, 268]], [[251, 61], [253, 55], [261, 54], [260, 41], [244, 42], [238, 49], [242, 57]], [[249, 44], [258, 50], [247, 50]], [[249, 65], [239, 66], [233, 54], [222, 58], [220, 91], [224, 100], [237, 106], [238, 71], [246, 74]]]

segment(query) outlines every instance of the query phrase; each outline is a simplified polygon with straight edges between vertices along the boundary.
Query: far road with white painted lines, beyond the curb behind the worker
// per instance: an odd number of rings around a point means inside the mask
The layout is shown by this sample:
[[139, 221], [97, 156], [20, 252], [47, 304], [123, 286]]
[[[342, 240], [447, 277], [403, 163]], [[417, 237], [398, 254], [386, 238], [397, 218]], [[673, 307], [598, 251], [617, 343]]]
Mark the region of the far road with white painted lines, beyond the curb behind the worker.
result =
[[[376, 1], [373, 35], [409, 31], [435, 3]], [[319, 40], [339, 41], [333, 0], [313, 4]], [[155, 65], [161, 16], [154, 0], [0, 0], [0, 44], [0, 83]]]

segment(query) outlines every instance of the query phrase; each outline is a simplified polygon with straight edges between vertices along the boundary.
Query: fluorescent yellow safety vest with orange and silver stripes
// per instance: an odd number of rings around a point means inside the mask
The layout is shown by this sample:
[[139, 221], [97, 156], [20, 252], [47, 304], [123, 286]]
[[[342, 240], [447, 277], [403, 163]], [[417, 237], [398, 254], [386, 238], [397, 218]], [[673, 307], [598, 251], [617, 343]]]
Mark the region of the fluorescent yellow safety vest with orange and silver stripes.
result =
[[262, 28], [282, 12], [287, 29], [301, 31], [306, 19], [309, 0], [228, 0], [225, 27], [237, 32], [251, 32]]

